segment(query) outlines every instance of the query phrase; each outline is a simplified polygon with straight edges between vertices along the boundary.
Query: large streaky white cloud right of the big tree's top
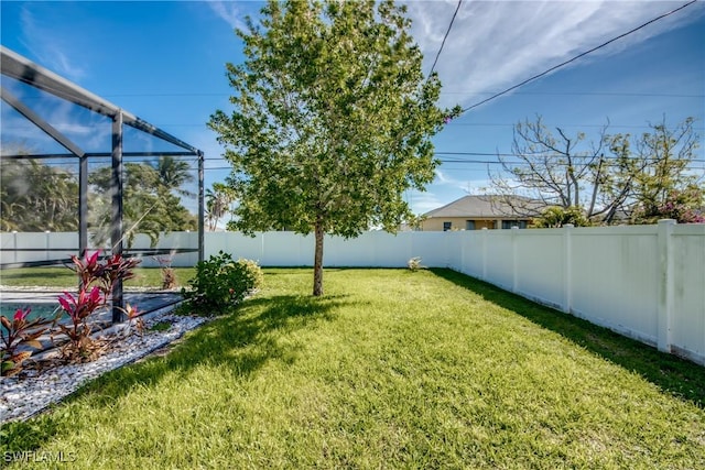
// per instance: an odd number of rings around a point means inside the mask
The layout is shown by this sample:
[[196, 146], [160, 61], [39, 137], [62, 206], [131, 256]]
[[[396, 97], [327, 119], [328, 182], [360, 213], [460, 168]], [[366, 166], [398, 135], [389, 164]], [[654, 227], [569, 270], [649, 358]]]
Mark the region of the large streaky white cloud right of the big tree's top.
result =
[[[673, 1], [465, 1], [446, 40], [436, 70], [442, 105], [487, 98], [616, 37], [666, 11]], [[448, 28], [455, 0], [410, 1], [412, 34], [431, 65]], [[694, 4], [571, 64], [615, 54], [705, 12]], [[449, 94], [447, 94], [449, 92]]]

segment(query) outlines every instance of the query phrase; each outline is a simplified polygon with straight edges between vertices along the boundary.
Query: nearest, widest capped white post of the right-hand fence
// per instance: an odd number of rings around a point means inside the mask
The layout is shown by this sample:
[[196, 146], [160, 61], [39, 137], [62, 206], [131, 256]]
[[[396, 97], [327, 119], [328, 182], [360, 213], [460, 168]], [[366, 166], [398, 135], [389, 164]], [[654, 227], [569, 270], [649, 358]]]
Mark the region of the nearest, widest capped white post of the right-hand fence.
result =
[[671, 352], [673, 320], [673, 226], [675, 220], [662, 219], [658, 226], [659, 247], [659, 351]]

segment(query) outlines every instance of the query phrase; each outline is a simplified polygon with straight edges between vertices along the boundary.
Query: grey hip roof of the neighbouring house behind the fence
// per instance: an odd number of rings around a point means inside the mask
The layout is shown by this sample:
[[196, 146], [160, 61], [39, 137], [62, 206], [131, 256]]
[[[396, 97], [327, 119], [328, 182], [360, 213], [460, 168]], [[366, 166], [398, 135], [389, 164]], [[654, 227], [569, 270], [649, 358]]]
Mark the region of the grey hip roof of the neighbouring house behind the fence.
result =
[[536, 212], [540, 206], [543, 206], [540, 201], [521, 196], [465, 196], [451, 204], [446, 204], [443, 207], [431, 210], [424, 214], [424, 216], [426, 218], [464, 217], [475, 219], [530, 219], [531, 216], [520, 216], [518, 214]]

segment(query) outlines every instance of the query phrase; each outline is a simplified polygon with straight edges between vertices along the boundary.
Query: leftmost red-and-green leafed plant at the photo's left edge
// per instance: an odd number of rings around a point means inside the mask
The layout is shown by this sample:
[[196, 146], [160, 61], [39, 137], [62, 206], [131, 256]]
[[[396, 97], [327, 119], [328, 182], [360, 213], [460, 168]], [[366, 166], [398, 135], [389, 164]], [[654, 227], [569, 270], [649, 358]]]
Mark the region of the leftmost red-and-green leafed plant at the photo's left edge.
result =
[[10, 376], [22, 371], [22, 363], [26, 361], [32, 351], [26, 349], [18, 350], [21, 347], [41, 348], [37, 340], [48, 329], [51, 320], [46, 318], [34, 318], [28, 320], [31, 308], [18, 308], [12, 319], [0, 315], [2, 324], [2, 375]]

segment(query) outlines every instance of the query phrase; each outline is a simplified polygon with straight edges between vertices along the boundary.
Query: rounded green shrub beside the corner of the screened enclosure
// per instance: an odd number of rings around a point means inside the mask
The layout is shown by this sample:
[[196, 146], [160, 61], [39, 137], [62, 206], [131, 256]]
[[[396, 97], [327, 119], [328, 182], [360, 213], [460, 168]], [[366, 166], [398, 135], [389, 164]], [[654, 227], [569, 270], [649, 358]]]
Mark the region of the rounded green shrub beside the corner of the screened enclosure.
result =
[[260, 288], [262, 281], [262, 270], [257, 262], [234, 261], [230, 254], [220, 251], [196, 264], [196, 275], [188, 281], [191, 288], [182, 293], [193, 311], [216, 315]]

